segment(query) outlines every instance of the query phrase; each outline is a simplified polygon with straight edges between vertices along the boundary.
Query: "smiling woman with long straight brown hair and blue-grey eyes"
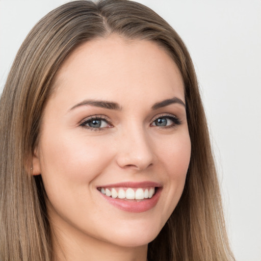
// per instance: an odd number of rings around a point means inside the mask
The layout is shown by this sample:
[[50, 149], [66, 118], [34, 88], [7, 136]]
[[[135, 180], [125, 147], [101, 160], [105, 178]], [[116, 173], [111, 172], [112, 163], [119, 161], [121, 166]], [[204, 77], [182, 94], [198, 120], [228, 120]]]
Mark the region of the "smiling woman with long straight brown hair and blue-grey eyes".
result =
[[1, 260], [233, 260], [193, 64], [150, 9], [47, 14], [0, 113]]

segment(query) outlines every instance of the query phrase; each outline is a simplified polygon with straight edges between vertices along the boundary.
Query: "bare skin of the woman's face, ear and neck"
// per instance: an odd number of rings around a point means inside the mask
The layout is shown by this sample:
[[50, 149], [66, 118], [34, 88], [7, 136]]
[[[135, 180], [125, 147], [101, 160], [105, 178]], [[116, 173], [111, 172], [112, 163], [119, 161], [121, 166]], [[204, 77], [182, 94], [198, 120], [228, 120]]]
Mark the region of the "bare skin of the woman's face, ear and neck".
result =
[[[185, 103], [180, 72], [153, 42], [117, 35], [76, 48], [56, 76], [43, 112], [33, 174], [41, 174], [57, 260], [146, 260], [184, 189], [191, 143], [185, 106], [153, 110], [162, 100]], [[117, 102], [121, 110], [75, 105], [86, 99]], [[74, 109], [71, 109], [75, 107]], [[81, 126], [102, 115], [98, 131]], [[156, 126], [155, 119], [174, 115]], [[165, 118], [166, 119], [166, 118]], [[97, 187], [124, 181], [162, 185], [149, 211], [120, 210]]]

